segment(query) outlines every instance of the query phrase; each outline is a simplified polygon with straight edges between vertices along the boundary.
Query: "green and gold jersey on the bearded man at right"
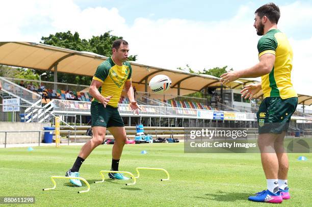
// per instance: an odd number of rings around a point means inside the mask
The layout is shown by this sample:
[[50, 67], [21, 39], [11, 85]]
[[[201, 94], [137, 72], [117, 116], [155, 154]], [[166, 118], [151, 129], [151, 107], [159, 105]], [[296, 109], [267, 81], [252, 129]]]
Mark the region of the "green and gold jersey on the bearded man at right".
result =
[[288, 99], [297, 97], [291, 82], [293, 68], [293, 50], [284, 33], [271, 29], [258, 41], [258, 57], [271, 53], [275, 55], [275, 63], [269, 74], [261, 76], [264, 98], [280, 97]]

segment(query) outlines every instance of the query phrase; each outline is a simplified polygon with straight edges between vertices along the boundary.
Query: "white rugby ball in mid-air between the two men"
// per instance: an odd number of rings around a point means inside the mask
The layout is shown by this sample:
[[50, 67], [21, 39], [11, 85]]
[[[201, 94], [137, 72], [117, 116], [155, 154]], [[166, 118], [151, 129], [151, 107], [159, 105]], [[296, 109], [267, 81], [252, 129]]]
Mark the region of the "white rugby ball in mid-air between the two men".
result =
[[171, 79], [166, 75], [156, 75], [150, 79], [148, 84], [153, 93], [162, 94], [171, 86]]

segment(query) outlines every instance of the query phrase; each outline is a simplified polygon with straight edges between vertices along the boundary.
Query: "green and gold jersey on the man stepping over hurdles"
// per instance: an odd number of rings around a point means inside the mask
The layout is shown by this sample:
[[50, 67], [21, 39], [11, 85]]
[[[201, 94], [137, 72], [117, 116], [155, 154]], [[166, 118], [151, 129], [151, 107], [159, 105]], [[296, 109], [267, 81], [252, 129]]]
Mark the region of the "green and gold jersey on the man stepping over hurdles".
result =
[[103, 97], [113, 96], [108, 105], [117, 107], [123, 85], [126, 81], [131, 81], [131, 74], [132, 68], [128, 62], [118, 66], [111, 57], [97, 67], [93, 80], [102, 83], [98, 91]]

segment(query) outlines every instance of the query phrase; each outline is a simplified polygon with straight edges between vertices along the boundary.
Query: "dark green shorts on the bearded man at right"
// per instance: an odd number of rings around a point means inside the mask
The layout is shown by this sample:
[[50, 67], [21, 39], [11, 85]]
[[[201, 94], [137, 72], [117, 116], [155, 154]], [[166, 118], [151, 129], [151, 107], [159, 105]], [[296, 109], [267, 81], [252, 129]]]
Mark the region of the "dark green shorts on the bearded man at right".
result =
[[259, 134], [287, 132], [291, 116], [295, 112], [297, 104], [297, 97], [288, 99], [281, 99], [280, 97], [265, 98], [257, 112]]

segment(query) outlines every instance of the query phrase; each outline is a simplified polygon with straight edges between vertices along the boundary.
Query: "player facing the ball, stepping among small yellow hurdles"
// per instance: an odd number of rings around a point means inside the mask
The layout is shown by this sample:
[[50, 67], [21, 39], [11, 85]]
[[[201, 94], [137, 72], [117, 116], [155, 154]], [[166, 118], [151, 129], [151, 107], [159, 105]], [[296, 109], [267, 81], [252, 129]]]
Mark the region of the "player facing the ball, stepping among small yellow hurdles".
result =
[[[79, 177], [79, 169], [96, 146], [105, 140], [106, 129], [115, 138], [112, 150], [112, 168], [118, 171], [119, 159], [126, 142], [126, 132], [123, 121], [118, 112], [118, 102], [123, 86], [129, 99], [130, 107], [139, 114], [139, 107], [134, 98], [131, 81], [132, 68], [126, 62], [128, 58], [128, 43], [124, 40], [116, 40], [112, 46], [112, 57], [102, 62], [96, 69], [90, 85], [89, 93], [94, 98], [91, 103], [92, 139], [81, 149], [71, 169], [66, 176]], [[110, 178], [128, 180], [121, 173], [109, 173]], [[80, 180], [71, 179], [75, 186], [82, 186]]]

